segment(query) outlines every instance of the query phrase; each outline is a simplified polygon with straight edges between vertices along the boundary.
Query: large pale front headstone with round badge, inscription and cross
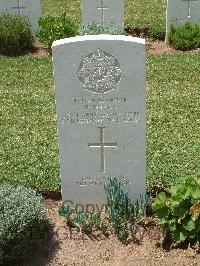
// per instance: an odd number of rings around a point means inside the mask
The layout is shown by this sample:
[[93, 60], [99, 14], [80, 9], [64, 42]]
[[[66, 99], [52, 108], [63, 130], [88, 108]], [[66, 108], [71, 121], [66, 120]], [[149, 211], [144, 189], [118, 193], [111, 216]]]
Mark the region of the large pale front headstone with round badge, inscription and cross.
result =
[[98, 211], [116, 177], [145, 192], [145, 41], [82, 36], [53, 43], [63, 203]]

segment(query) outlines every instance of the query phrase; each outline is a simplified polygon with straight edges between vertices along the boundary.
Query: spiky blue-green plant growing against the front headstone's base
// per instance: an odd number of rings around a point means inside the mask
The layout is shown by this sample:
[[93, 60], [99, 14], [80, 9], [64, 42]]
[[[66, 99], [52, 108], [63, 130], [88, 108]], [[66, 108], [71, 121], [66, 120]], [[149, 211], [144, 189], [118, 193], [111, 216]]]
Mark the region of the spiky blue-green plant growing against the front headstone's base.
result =
[[65, 205], [59, 209], [59, 214], [66, 219], [70, 227], [76, 227], [86, 233], [101, 230], [107, 234], [109, 225], [111, 225], [118, 238], [127, 243], [138, 231], [138, 224], [145, 215], [148, 199], [146, 195], [141, 196], [135, 204], [132, 204], [128, 194], [121, 189], [116, 178], [110, 178], [108, 184], [105, 185], [105, 192], [107, 194], [105, 210], [107, 219], [105, 217], [102, 219], [100, 213], [81, 213]]

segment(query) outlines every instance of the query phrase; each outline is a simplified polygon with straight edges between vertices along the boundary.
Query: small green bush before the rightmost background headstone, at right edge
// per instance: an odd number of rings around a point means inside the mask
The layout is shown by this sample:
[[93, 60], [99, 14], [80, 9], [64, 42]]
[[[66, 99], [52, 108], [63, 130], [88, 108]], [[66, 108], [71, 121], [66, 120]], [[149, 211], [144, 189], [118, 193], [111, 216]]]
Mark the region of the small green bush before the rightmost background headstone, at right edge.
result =
[[200, 25], [187, 22], [181, 27], [171, 26], [169, 43], [178, 50], [188, 51], [200, 48]]

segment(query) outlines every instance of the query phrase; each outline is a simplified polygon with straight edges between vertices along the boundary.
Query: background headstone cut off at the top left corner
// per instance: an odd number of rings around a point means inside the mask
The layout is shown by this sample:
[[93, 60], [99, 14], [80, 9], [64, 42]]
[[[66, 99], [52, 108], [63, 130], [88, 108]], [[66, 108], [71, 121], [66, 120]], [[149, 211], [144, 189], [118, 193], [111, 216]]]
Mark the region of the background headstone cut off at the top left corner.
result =
[[0, 12], [27, 16], [33, 30], [37, 30], [41, 17], [40, 0], [0, 0]]

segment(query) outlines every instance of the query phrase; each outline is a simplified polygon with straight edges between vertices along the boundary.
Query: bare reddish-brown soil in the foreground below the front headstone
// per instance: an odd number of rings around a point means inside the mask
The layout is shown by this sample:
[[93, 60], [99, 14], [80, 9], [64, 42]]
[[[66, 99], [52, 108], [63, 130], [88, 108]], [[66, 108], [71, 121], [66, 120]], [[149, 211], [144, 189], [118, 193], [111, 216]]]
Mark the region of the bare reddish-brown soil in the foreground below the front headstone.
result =
[[[77, 233], [67, 227], [58, 215], [60, 201], [46, 199], [51, 229], [45, 236], [44, 245], [35, 251], [24, 266], [39, 265], [200, 265], [200, 254], [188, 248], [165, 251], [159, 245], [160, 229], [152, 219], [146, 228], [141, 228], [135, 243], [123, 245], [114, 234], [95, 237]], [[22, 264], [20, 264], [22, 265]]]

